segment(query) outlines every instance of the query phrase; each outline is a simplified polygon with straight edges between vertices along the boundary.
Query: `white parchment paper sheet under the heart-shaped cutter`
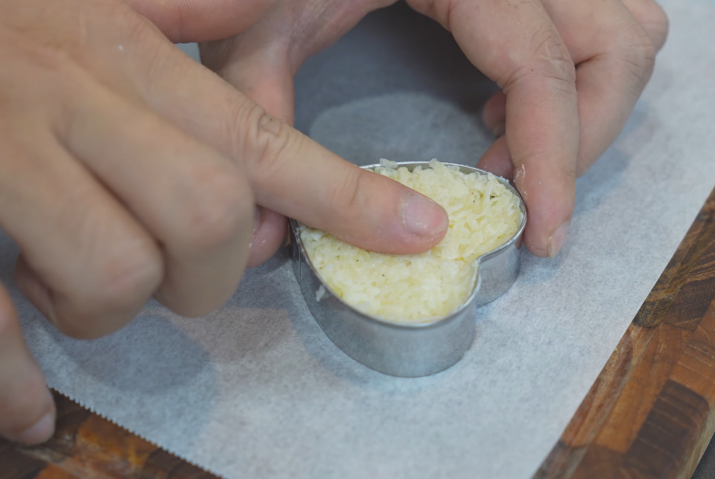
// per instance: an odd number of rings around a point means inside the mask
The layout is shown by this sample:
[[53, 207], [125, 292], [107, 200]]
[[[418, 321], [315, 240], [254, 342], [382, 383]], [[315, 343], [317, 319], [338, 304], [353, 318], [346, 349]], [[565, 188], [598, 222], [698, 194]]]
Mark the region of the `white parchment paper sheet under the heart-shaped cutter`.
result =
[[[156, 303], [90, 342], [59, 335], [0, 278], [49, 385], [226, 478], [528, 478], [546, 457], [715, 184], [715, 4], [664, 1], [671, 36], [616, 144], [578, 180], [563, 252], [523, 252], [455, 367], [400, 379], [344, 355], [287, 255], [220, 312]], [[404, 6], [372, 14], [297, 78], [297, 127], [358, 163], [474, 164], [493, 85]]]

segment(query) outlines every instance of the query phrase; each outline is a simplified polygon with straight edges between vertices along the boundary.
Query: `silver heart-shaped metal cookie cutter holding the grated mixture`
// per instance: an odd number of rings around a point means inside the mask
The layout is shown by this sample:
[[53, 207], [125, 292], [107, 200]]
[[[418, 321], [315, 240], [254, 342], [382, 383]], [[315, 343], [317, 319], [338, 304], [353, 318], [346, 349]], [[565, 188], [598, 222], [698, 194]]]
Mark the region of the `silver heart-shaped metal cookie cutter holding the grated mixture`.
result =
[[[482, 169], [461, 164], [463, 173]], [[363, 168], [374, 169], [379, 164]], [[428, 162], [402, 162], [398, 167], [429, 168]], [[519, 250], [526, 226], [526, 206], [516, 188], [497, 177], [516, 194], [521, 225], [503, 245], [477, 259], [478, 277], [468, 300], [450, 315], [431, 322], [403, 324], [381, 320], [355, 310], [337, 297], [318, 275], [300, 240], [300, 226], [290, 220], [292, 265], [308, 309], [332, 342], [352, 359], [373, 370], [402, 377], [435, 374], [458, 362], [474, 340], [475, 310], [508, 290], [519, 274]]]

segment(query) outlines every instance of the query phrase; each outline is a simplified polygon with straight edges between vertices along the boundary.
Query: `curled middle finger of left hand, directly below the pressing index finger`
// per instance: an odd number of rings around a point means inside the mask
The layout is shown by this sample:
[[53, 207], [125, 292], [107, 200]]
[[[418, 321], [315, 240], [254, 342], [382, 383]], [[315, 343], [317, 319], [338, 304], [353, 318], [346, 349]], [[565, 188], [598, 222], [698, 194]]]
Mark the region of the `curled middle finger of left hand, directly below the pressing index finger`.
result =
[[157, 299], [186, 316], [217, 309], [247, 262], [250, 184], [229, 159], [155, 112], [99, 85], [82, 91], [68, 107], [63, 141], [162, 246]]

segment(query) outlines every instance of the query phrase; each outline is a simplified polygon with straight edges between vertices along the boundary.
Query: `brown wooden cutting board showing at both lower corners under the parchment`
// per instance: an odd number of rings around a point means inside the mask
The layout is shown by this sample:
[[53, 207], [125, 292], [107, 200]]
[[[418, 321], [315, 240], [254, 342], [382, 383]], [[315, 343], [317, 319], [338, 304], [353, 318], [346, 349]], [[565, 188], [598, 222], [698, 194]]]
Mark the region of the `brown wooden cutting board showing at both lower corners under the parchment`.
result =
[[[715, 430], [715, 190], [534, 479], [690, 478]], [[54, 393], [44, 445], [0, 479], [212, 478]]]

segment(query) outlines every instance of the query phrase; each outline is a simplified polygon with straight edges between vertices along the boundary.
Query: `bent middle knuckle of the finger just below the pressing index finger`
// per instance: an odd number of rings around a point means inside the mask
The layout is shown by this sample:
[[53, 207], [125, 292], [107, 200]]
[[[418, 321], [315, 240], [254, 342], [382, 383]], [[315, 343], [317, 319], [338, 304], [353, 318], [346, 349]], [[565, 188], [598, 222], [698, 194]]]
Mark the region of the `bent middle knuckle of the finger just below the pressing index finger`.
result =
[[237, 170], [212, 169], [194, 180], [184, 214], [184, 250], [212, 250], [252, 227], [252, 195]]

